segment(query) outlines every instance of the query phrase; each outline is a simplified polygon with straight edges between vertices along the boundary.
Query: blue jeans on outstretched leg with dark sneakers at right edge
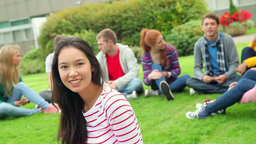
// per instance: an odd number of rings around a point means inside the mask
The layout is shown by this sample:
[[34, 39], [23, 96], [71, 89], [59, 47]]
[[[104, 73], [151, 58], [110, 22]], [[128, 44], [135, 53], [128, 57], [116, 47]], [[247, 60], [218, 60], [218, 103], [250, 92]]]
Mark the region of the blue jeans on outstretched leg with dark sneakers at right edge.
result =
[[238, 102], [243, 94], [252, 89], [256, 84], [256, 70], [248, 70], [238, 81], [238, 83], [218, 97], [213, 103], [206, 106], [207, 112], [216, 112], [225, 109]]

